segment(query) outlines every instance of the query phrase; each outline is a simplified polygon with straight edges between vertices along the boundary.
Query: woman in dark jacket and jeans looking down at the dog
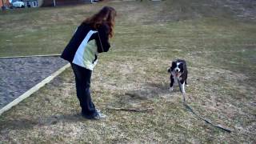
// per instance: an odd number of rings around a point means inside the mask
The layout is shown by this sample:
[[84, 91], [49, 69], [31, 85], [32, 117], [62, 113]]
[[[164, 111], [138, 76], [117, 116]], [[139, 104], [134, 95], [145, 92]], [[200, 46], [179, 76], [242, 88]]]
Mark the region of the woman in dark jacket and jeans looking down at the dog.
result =
[[74, 71], [77, 96], [84, 118], [106, 118], [106, 115], [97, 110], [92, 102], [90, 78], [98, 62], [98, 53], [110, 49], [109, 38], [114, 35], [115, 16], [114, 8], [105, 6], [97, 14], [86, 18], [62, 52], [61, 58], [69, 61]]

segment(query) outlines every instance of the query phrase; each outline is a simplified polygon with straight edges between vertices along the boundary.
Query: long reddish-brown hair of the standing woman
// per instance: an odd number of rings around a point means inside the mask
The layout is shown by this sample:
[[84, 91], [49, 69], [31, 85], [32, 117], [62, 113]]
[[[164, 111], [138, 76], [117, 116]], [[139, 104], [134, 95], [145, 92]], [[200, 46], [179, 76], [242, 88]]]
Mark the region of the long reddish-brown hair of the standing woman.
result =
[[106, 23], [108, 26], [110, 26], [109, 37], [112, 38], [114, 36], [114, 17], [116, 15], [117, 12], [113, 7], [104, 6], [97, 14], [94, 14], [90, 18], [86, 18], [86, 20], [83, 22], [90, 24], [90, 26], [94, 29], [98, 29], [102, 23]]

